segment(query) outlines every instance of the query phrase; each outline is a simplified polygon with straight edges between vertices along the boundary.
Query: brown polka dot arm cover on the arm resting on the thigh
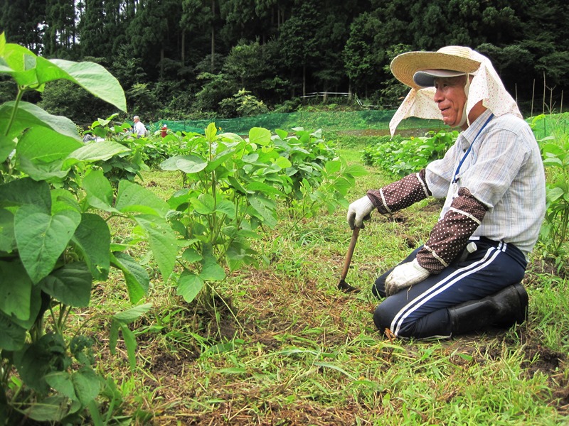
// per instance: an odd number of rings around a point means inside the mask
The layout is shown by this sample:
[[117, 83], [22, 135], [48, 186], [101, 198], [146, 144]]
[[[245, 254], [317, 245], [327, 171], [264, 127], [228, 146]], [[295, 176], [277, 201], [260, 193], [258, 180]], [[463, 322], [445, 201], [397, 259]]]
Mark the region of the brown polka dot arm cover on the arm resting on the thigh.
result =
[[430, 273], [440, 273], [462, 253], [468, 239], [486, 214], [486, 207], [462, 187], [450, 209], [432, 229], [429, 240], [417, 253], [420, 266]]

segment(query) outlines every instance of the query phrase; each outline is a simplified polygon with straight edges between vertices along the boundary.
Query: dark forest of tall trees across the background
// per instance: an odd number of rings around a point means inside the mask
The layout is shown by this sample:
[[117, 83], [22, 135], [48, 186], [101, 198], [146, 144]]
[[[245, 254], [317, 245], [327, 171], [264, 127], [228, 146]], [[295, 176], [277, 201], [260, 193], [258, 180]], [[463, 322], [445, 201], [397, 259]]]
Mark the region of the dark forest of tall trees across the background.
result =
[[[559, 111], [569, 75], [565, 0], [0, 0], [0, 31], [107, 67], [145, 121], [289, 111], [308, 92], [396, 107], [390, 60], [444, 45], [491, 58], [526, 112]], [[65, 82], [34, 100], [78, 122], [115, 112]]]

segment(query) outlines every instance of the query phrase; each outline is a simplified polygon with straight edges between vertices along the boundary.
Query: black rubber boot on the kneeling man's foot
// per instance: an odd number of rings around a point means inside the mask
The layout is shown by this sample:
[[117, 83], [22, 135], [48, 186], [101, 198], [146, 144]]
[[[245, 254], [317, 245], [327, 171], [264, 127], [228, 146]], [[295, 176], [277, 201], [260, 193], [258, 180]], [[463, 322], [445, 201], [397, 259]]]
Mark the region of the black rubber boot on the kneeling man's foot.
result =
[[481, 330], [489, 325], [509, 328], [526, 320], [528, 293], [521, 283], [517, 283], [484, 299], [450, 307], [448, 311], [453, 336]]

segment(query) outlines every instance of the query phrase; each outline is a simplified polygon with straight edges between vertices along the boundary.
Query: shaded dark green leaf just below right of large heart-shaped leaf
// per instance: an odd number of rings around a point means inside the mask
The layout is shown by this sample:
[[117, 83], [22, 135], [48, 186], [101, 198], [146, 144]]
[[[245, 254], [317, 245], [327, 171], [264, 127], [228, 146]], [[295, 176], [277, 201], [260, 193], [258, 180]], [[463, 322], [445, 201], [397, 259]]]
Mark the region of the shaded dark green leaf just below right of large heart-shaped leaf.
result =
[[85, 263], [67, 263], [41, 280], [41, 289], [62, 302], [74, 307], [87, 307], [91, 297], [92, 275]]

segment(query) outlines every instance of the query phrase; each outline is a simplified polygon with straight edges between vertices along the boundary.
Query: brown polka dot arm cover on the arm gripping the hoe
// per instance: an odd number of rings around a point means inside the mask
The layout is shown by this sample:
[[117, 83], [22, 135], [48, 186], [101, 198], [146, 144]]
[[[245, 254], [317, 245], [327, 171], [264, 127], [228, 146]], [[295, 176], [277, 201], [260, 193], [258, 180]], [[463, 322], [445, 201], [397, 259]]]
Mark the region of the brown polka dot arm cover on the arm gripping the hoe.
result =
[[430, 195], [425, 180], [425, 169], [414, 175], [405, 176], [397, 182], [390, 183], [381, 190], [368, 191], [369, 199], [378, 209], [378, 212], [383, 214], [397, 212]]

